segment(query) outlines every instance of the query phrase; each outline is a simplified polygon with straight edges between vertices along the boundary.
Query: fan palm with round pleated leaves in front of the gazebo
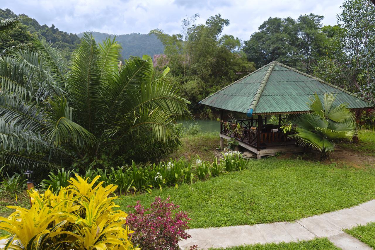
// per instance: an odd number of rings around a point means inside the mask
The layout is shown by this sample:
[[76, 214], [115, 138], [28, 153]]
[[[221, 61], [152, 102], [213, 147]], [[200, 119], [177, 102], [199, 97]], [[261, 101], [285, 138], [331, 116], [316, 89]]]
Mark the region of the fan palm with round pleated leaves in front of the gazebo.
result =
[[340, 139], [351, 140], [356, 134], [354, 114], [345, 104], [335, 105], [336, 95], [324, 94], [323, 103], [315, 94], [311, 98], [310, 113], [291, 114], [287, 118], [297, 125], [291, 138], [302, 145], [321, 151], [321, 160], [326, 159]]

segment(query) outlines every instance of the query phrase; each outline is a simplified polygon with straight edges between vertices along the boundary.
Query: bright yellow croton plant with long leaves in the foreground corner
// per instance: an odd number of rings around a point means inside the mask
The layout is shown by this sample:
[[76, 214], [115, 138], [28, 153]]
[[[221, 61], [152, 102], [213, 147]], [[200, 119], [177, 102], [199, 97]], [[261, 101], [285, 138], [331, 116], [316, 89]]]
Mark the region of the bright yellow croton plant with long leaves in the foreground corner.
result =
[[32, 206], [8, 206], [15, 209], [8, 218], [0, 217], [0, 229], [10, 235], [1, 237], [6, 243], [0, 249], [139, 249], [133, 248], [127, 214], [115, 210], [114, 199], [109, 197], [117, 188], [95, 185], [76, 175], [66, 188], [57, 194], [46, 190], [28, 191]]

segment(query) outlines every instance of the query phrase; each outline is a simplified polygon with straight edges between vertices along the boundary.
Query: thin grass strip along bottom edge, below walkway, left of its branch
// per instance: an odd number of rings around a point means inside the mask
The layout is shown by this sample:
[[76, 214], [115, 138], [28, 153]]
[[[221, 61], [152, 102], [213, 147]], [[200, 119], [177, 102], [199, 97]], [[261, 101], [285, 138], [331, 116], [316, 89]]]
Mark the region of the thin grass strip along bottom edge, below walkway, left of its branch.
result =
[[310, 241], [299, 241], [279, 244], [255, 244], [255, 245], [240, 245], [238, 247], [228, 248], [210, 248], [210, 250], [306, 250], [306, 249], [325, 249], [325, 250], [339, 250], [340, 248], [335, 247], [332, 242], [327, 238], [316, 238]]

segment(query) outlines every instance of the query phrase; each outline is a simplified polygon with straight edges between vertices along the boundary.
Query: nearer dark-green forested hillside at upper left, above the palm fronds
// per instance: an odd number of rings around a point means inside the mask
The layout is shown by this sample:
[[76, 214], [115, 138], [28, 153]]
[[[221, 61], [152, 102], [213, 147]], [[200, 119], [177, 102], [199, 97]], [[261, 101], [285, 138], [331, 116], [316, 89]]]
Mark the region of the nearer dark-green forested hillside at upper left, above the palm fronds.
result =
[[[10, 9], [0, 9], [0, 20], [17, 17]], [[38, 21], [20, 14], [25, 19], [22, 24], [10, 30], [9, 34], [0, 41], [0, 50], [11, 48], [20, 44], [27, 44], [33, 37], [43, 36], [48, 42], [52, 42], [52, 47], [60, 48], [63, 56], [69, 60], [71, 54], [80, 43], [80, 38], [76, 34], [63, 32], [58, 30], [53, 24], [48, 27], [46, 24], [40, 25]]]

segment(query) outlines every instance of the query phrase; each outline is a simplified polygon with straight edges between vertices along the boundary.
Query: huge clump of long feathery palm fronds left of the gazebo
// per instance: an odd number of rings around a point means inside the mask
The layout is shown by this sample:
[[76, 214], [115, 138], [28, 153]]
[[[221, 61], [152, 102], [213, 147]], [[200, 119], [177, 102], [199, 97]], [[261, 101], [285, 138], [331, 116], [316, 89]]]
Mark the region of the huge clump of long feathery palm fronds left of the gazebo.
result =
[[86, 33], [70, 65], [45, 39], [0, 57], [3, 164], [106, 166], [178, 145], [174, 121], [190, 116], [189, 102], [165, 81], [169, 68], [157, 74], [149, 56], [119, 68], [120, 49]]

